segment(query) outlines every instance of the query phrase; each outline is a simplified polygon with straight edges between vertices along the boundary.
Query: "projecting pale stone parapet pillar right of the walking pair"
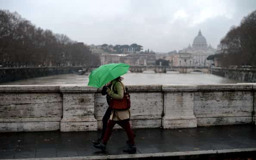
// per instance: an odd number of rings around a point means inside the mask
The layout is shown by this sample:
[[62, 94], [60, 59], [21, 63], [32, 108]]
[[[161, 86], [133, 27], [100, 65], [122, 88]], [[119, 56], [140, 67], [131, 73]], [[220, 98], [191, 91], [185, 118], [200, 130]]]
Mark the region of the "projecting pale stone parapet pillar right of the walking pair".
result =
[[163, 128], [197, 127], [194, 115], [196, 85], [162, 85], [164, 92]]

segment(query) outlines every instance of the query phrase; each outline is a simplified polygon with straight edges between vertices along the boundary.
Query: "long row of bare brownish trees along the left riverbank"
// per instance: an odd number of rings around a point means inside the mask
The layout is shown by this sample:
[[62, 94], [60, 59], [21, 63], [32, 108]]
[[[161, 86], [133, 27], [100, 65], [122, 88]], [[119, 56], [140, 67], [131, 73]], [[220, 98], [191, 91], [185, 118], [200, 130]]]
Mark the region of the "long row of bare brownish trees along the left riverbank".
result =
[[17, 12], [0, 10], [1, 66], [81, 66], [100, 60], [64, 34], [35, 27]]

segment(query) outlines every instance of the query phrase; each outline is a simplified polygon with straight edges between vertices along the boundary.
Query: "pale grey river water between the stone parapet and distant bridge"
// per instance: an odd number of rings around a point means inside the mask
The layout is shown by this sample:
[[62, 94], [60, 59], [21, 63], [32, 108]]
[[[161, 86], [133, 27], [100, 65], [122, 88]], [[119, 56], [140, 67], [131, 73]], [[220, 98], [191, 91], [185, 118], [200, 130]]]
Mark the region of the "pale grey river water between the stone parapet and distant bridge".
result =
[[[47, 77], [30, 78], [0, 85], [87, 85], [88, 75], [53, 75]], [[168, 73], [127, 73], [122, 76], [125, 85], [168, 85], [168, 84], [226, 84], [239, 83], [239, 81], [223, 78], [217, 75], [198, 72], [181, 74], [178, 72]]]

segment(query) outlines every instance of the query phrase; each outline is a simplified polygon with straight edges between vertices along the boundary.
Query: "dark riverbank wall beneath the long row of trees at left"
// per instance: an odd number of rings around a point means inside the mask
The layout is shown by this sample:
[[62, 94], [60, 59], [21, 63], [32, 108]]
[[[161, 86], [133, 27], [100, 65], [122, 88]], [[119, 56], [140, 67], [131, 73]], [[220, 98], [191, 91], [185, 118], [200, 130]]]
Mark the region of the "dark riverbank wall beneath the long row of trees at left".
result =
[[82, 69], [80, 66], [53, 66], [53, 67], [12, 67], [0, 68], [0, 83], [12, 82], [21, 79], [43, 77], [49, 75], [68, 74], [78, 72]]

